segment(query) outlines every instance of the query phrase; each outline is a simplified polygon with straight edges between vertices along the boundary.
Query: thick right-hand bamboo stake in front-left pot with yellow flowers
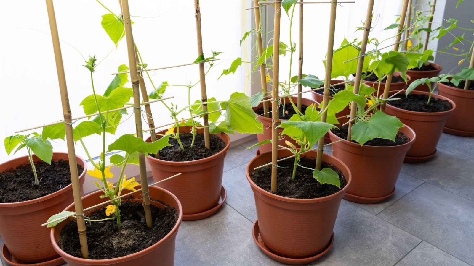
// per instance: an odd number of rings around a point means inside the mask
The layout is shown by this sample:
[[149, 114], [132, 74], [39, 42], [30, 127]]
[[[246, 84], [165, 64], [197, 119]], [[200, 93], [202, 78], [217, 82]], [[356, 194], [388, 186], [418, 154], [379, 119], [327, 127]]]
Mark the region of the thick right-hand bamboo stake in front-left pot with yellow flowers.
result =
[[[142, 116], [140, 107], [140, 91], [137, 74], [137, 59], [135, 58], [135, 42], [133, 41], [132, 24], [130, 20], [130, 10], [128, 9], [128, 0], [122, 0], [123, 20], [125, 26], [125, 37], [127, 38], [127, 50], [128, 50], [128, 66], [130, 68], [130, 80], [132, 82], [133, 89], [133, 104], [136, 109], [135, 113], [135, 124], [137, 130], [137, 138], [143, 139], [142, 129]], [[140, 168], [140, 181], [142, 184], [143, 191], [143, 208], [145, 211], [146, 225], [151, 228], [153, 221], [151, 218], [150, 210], [150, 196], [148, 195], [148, 180], [146, 179], [146, 164], [145, 155], [138, 152], [138, 166]], [[145, 189], [144, 189], [145, 188]]]

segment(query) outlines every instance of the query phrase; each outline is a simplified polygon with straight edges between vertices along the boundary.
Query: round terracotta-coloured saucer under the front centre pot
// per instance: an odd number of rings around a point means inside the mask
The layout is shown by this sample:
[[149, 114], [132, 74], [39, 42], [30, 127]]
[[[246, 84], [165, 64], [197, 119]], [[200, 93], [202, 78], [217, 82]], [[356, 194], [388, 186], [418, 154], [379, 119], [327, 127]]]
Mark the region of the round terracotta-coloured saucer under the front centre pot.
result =
[[313, 262], [313, 261], [319, 259], [320, 257], [322, 257], [324, 254], [326, 254], [329, 251], [329, 249], [331, 249], [332, 244], [334, 243], [334, 231], [333, 231], [331, 239], [329, 240], [328, 247], [325, 250], [323, 250], [321, 253], [319, 253], [318, 255], [312, 256], [312, 257], [305, 257], [305, 258], [288, 258], [288, 257], [282, 257], [280, 255], [277, 255], [277, 254], [273, 253], [272, 250], [267, 248], [264, 241], [260, 237], [260, 230], [258, 228], [258, 221], [257, 220], [255, 220], [254, 226], [252, 228], [252, 236], [254, 237], [254, 241], [257, 244], [257, 246], [260, 249], [262, 249], [262, 251], [265, 253], [266, 256], [268, 256], [268, 257], [270, 257], [273, 260], [276, 260], [278, 262], [285, 263], [285, 264], [290, 264], [290, 265], [301, 265], [301, 264], [308, 264], [310, 262]]

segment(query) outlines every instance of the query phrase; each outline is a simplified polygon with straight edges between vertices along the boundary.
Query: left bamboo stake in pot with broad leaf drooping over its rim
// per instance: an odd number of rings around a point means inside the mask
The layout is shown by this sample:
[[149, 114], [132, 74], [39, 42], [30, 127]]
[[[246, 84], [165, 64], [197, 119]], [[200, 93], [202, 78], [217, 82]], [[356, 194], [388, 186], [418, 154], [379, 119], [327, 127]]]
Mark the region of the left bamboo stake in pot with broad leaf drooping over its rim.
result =
[[[364, 25], [364, 34], [362, 36], [362, 44], [360, 46], [360, 54], [365, 54], [365, 49], [367, 48], [367, 40], [369, 39], [370, 28], [372, 26], [372, 10], [374, 9], [374, 0], [369, 0], [369, 4], [367, 6], [367, 14], [365, 16], [365, 25]], [[360, 83], [362, 79], [362, 68], [364, 67], [364, 59], [362, 57], [357, 62], [357, 72], [356, 72], [356, 80], [354, 81], [354, 93], [359, 94]], [[357, 104], [355, 101], [351, 102], [351, 116], [350, 118], [356, 117], [357, 113]], [[355, 121], [349, 123], [347, 128], [347, 141], [351, 141], [352, 138], [352, 125]]]

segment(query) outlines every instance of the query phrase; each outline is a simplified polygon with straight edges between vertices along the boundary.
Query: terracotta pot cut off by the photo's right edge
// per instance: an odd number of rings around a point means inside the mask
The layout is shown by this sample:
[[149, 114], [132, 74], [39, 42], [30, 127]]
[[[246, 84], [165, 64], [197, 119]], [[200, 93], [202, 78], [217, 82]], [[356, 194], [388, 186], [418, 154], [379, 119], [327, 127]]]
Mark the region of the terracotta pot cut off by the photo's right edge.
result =
[[444, 133], [456, 136], [474, 136], [474, 90], [458, 89], [438, 83], [438, 95], [456, 103], [456, 110], [447, 119]]

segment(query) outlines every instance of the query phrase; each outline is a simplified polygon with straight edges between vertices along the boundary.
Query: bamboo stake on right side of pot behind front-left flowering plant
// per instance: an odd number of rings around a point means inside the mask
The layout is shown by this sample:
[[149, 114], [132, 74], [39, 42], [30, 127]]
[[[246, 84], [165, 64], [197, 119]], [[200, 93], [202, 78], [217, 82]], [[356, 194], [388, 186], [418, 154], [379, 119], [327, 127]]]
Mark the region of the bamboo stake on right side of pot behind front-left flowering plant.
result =
[[[198, 56], [204, 54], [202, 52], [202, 35], [201, 35], [201, 9], [199, 7], [199, 0], [194, 0], [194, 10], [196, 10], [196, 34], [198, 38]], [[199, 64], [199, 80], [201, 85], [201, 101], [203, 103], [207, 102], [207, 92], [206, 92], [206, 71], [204, 71], [204, 63]], [[207, 104], [202, 105], [202, 110], [207, 111]], [[209, 116], [205, 114], [203, 116], [204, 124], [204, 145], [206, 148], [210, 149], [209, 141]]]

